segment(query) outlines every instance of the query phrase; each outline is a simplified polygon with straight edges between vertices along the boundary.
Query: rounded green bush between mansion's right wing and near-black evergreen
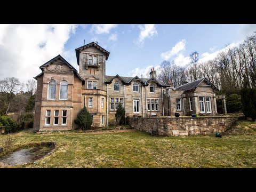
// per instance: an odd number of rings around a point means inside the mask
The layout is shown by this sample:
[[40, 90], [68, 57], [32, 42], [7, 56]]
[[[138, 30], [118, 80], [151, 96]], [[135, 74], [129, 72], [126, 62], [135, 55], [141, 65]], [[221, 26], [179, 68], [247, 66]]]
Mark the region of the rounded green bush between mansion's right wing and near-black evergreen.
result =
[[231, 94], [226, 97], [227, 113], [235, 113], [242, 110], [241, 95]]

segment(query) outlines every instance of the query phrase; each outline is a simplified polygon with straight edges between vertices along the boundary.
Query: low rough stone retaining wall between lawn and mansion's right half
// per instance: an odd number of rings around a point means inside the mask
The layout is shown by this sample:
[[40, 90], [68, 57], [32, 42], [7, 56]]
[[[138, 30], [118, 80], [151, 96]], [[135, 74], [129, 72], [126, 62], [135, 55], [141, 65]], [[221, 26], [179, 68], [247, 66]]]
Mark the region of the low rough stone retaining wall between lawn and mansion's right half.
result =
[[127, 117], [126, 123], [134, 129], [151, 133], [157, 130], [158, 135], [213, 135], [224, 132], [236, 121], [245, 119], [244, 116], [234, 117]]

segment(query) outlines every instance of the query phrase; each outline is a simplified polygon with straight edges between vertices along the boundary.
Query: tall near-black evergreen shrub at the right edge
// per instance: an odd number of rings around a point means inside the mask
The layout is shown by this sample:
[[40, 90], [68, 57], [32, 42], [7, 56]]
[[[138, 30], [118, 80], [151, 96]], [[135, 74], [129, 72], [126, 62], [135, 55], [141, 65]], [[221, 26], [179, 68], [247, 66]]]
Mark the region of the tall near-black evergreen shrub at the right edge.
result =
[[243, 113], [246, 117], [256, 119], [256, 88], [243, 88], [241, 90]]

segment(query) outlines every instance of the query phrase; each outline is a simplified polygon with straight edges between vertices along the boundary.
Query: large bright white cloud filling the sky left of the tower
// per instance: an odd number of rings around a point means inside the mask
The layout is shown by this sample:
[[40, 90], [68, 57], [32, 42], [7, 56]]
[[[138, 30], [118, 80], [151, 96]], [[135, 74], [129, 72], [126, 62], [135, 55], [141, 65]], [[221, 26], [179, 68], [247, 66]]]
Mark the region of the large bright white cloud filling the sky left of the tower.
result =
[[[64, 50], [77, 25], [9, 25], [0, 28], [0, 77], [18, 77], [25, 83], [39, 73], [39, 66], [61, 54], [67, 61], [71, 53]], [[72, 50], [74, 52], [74, 50]], [[72, 56], [75, 58], [75, 55]], [[71, 65], [74, 65], [71, 62]], [[76, 67], [76, 65], [74, 65]]]

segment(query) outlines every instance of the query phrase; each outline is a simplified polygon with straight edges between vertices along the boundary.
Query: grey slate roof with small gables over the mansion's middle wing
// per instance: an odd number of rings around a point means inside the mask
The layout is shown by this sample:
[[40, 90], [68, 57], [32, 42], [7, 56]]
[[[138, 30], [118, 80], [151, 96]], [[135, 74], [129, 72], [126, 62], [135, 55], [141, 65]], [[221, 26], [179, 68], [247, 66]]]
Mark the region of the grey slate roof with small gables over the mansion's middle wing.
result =
[[158, 85], [160, 85], [160, 86], [168, 86], [167, 84], [165, 84], [164, 82], [161, 82], [161, 81], [159, 81], [159, 80], [157, 80], [156, 78], [143, 78], [142, 80], [141, 80], [141, 78], [139, 78], [138, 76], [135, 76], [135, 77], [121, 77], [121, 76], [119, 76], [119, 75], [116, 75], [116, 76], [109, 76], [109, 75], [106, 75], [105, 76], [105, 82], [106, 83], [111, 83], [112, 81], [113, 81], [113, 79], [115, 78], [115, 77], [120, 77], [120, 79], [121, 79], [121, 81], [123, 82], [123, 83], [125, 83], [125, 84], [131, 84], [131, 82], [132, 82], [132, 80], [134, 79], [134, 78], [137, 78], [140, 82], [142, 82], [143, 84], [148, 84], [148, 82], [150, 82], [150, 81], [155, 81]]

